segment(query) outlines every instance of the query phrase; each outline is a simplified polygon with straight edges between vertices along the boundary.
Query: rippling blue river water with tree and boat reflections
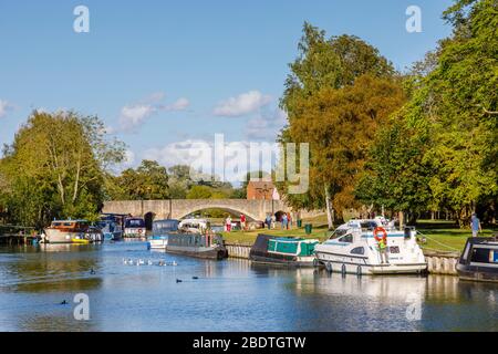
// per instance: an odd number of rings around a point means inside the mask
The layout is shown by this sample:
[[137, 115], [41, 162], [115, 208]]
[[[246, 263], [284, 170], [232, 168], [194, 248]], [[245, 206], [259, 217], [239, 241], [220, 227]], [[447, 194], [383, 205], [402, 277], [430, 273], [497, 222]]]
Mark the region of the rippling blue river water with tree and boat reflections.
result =
[[[74, 317], [79, 293], [89, 295], [89, 321]], [[498, 331], [497, 299], [498, 284], [455, 277], [343, 278], [147, 251], [145, 242], [0, 248], [2, 332]]]

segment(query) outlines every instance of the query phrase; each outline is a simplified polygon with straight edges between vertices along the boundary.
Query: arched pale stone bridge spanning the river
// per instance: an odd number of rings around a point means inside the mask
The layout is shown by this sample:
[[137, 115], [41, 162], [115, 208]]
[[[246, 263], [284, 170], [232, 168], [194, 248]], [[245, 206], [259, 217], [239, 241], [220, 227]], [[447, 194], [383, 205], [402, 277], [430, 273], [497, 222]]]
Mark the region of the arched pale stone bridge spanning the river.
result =
[[[103, 212], [131, 214], [135, 217], [153, 219], [181, 219], [204, 209], [221, 209], [234, 214], [245, 214], [248, 220], [264, 220], [268, 214], [293, 212], [282, 200], [247, 199], [168, 199], [168, 200], [115, 200], [104, 204]], [[300, 211], [301, 217], [319, 212]]]

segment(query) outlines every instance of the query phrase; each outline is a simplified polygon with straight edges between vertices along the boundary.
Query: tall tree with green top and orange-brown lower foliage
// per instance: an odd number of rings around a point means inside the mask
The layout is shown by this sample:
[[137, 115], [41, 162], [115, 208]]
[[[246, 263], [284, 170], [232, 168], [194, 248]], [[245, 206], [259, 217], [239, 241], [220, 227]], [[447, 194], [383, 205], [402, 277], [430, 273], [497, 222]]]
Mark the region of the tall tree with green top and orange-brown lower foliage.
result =
[[402, 82], [387, 60], [364, 41], [349, 35], [325, 39], [304, 24], [300, 58], [291, 64], [281, 106], [289, 125], [281, 142], [310, 144], [310, 188], [286, 194], [299, 208], [333, 210], [357, 207], [353, 190], [377, 127], [405, 102]]

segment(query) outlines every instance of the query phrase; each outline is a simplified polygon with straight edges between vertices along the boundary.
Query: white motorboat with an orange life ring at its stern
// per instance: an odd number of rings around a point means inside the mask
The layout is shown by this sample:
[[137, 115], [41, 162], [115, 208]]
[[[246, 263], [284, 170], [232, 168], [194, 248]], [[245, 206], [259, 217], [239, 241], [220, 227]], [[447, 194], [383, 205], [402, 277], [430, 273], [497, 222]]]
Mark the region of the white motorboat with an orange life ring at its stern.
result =
[[[381, 242], [385, 242], [384, 252]], [[317, 261], [330, 272], [396, 274], [421, 273], [427, 268], [415, 228], [398, 231], [383, 219], [351, 220], [314, 251]]]

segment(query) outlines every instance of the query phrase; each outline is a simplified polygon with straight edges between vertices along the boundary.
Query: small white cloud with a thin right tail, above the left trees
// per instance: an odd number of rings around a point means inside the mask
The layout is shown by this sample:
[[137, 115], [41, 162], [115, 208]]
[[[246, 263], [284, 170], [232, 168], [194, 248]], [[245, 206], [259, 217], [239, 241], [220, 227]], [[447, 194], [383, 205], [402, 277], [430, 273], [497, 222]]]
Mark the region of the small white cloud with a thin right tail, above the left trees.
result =
[[165, 98], [162, 92], [152, 94], [145, 102], [126, 105], [121, 110], [120, 125], [123, 131], [133, 131], [144, 124], [147, 118], [157, 114], [158, 112], [179, 112], [185, 111], [190, 105], [190, 102], [185, 98], [178, 98], [169, 105], [158, 104], [158, 101]]

